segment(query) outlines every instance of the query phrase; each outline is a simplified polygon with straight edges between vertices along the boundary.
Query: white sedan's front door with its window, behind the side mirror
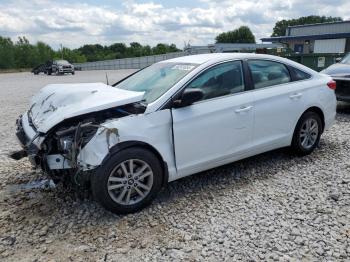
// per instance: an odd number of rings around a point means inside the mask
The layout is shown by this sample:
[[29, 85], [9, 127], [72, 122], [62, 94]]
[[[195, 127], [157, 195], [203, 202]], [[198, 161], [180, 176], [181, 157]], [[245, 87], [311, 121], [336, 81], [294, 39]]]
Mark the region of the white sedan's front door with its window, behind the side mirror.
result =
[[201, 101], [173, 108], [173, 134], [178, 176], [231, 162], [250, 148], [253, 92], [246, 92], [241, 61], [217, 64], [184, 90], [204, 93]]

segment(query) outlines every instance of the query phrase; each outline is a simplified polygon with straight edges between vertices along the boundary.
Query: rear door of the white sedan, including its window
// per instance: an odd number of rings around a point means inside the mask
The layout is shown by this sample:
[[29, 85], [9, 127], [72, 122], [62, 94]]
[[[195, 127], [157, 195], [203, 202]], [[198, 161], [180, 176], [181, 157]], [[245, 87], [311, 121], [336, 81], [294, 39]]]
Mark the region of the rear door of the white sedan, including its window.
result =
[[283, 63], [248, 60], [255, 96], [253, 144], [258, 151], [289, 145], [304, 110], [305, 85]]

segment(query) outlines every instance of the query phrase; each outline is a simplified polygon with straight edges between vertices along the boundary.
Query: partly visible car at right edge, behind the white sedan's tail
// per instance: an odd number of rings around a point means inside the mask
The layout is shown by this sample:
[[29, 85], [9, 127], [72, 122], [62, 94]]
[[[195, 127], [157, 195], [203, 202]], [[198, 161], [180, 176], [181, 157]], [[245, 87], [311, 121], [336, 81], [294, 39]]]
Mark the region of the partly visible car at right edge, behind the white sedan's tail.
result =
[[350, 103], [350, 53], [321, 73], [330, 75], [337, 82], [337, 100]]

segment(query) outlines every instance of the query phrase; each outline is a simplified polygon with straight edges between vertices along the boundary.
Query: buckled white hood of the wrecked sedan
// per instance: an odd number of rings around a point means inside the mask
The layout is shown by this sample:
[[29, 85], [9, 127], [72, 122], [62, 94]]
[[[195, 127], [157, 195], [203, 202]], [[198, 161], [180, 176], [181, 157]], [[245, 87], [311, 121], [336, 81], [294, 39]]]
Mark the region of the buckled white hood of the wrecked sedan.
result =
[[46, 133], [65, 119], [139, 102], [143, 95], [103, 83], [47, 85], [32, 98], [29, 115], [36, 129]]

